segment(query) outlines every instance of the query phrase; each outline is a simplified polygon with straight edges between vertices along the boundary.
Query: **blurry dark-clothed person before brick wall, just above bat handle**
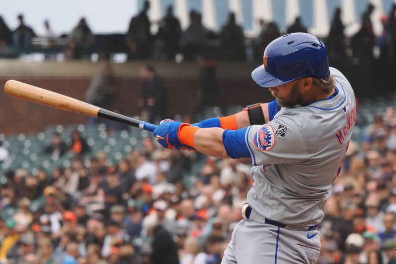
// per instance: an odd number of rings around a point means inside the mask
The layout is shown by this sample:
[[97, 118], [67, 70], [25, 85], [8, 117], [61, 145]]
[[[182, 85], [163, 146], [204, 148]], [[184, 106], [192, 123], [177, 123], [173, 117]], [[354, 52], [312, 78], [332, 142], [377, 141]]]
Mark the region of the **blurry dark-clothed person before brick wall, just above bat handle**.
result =
[[167, 109], [167, 88], [155, 69], [147, 65], [140, 69], [140, 76], [143, 80], [143, 111], [142, 116], [147, 116], [146, 120], [154, 124], [159, 123], [166, 116]]

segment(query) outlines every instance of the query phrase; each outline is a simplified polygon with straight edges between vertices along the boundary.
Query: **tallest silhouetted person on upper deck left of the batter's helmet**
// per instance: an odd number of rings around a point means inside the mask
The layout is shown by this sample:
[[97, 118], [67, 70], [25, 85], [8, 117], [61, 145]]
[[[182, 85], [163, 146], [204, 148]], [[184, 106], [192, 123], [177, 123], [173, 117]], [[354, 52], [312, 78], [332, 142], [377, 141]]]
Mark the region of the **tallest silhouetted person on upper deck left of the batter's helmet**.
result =
[[150, 2], [145, 0], [140, 13], [131, 19], [125, 41], [128, 46], [128, 59], [146, 59], [151, 55], [152, 35], [150, 20], [148, 19]]

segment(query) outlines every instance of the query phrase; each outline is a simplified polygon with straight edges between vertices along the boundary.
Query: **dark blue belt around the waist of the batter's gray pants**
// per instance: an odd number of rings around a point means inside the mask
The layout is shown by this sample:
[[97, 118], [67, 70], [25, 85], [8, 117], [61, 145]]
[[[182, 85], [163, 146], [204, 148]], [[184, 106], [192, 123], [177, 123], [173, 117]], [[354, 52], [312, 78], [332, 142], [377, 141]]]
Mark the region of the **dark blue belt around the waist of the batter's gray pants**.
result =
[[290, 229], [290, 230], [298, 230], [298, 231], [312, 231], [316, 230], [318, 227], [317, 225], [311, 225], [311, 226], [303, 226], [299, 224], [284, 224], [275, 220], [271, 220], [268, 218], [265, 218], [264, 216], [261, 216], [260, 214], [256, 213], [251, 209], [251, 207], [248, 204], [244, 204], [242, 207], [242, 217], [246, 220], [251, 220], [259, 223], [265, 223], [265, 224], [271, 224], [278, 226], [280, 228], [285, 228], [285, 229]]

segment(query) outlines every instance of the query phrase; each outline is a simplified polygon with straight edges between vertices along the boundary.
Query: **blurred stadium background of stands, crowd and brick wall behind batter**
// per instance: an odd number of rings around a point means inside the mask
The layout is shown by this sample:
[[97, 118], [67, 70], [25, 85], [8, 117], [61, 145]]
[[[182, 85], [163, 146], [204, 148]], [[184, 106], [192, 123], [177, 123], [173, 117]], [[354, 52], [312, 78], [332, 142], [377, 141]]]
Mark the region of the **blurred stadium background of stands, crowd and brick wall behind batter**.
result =
[[[352, 142], [318, 263], [396, 263], [394, 0], [13, 0], [0, 83], [158, 124], [269, 102], [251, 71], [308, 32], [351, 83]], [[0, 96], [0, 263], [218, 264], [251, 160], [164, 150], [146, 131]]]

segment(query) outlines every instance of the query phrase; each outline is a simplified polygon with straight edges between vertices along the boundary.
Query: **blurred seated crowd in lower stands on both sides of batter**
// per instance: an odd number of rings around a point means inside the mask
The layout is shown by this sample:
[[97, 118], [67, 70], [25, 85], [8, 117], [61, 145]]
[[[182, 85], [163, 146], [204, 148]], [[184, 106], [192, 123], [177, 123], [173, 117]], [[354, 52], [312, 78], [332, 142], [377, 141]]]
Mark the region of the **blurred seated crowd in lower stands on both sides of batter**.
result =
[[[325, 206], [319, 264], [396, 263], [395, 109], [362, 119], [361, 143], [350, 142]], [[252, 184], [250, 159], [165, 150], [145, 138], [108, 164], [105, 152], [92, 154], [82, 134], [71, 135], [66, 144], [55, 132], [43, 149], [71, 155], [69, 166], [5, 172], [0, 263], [221, 262]]]

